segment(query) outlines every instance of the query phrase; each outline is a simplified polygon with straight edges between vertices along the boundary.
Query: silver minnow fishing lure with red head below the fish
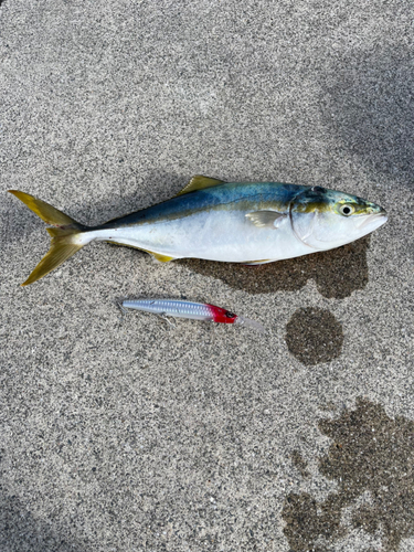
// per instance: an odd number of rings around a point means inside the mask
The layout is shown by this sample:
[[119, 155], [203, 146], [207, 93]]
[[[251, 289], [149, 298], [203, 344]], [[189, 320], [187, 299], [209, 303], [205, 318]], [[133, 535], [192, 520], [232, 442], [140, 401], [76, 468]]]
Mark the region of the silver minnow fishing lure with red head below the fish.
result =
[[123, 301], [123, 309], [137, 309], [152, 312], [163, 317], [190, 318], [204, 322], [237, 323], [248, 326], [258, 331], [264, 331], [261, 323], [243, 316], [237, 316], [230, 310], [209, 305], [206, 302], [180, 301], [176, 299], [134, 299]]

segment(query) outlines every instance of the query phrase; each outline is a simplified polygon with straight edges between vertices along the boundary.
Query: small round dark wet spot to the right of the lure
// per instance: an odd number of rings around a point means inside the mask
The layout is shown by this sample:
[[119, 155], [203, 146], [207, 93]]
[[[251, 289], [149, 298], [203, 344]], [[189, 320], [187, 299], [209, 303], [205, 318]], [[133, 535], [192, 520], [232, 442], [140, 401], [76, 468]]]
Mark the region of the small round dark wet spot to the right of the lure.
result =
[[342, 325], [327, 309], [301, 308], [286, 326], [286, 344], [302, 364], [330, 362], [341, 354]]

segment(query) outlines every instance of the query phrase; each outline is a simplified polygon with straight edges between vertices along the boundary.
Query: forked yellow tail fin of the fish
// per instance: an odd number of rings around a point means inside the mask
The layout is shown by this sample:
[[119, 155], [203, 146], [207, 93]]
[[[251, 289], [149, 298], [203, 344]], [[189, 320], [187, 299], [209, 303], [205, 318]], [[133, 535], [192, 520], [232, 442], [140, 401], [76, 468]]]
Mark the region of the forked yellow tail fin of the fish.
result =
[[9, 192], [28, 205], [28, 208], [45, 223], [55, 226], [53, 229], [46, 229], [52, 236], [51, 248], [31, 273], [29, 278], [23, 282], [22, 286], [28, 286], [43, 278], [43, 276], [57, 268], [66, 258], [72, 257], [72, 255], [93, 240], [93, 236], [87, 235], [89, 231], [87, 226], [79, 224], [45, 201], [38, 200], [29, 193], [19, 192], [17, 190], [9, 190]]

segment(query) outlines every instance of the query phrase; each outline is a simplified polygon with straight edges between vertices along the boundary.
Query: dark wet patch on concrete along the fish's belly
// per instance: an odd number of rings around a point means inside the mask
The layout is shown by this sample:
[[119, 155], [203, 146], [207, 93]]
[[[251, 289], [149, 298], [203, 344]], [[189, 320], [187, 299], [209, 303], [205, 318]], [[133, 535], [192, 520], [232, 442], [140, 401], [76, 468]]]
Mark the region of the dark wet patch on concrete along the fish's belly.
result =
[[182, 259], [177, 263], [250, 294], [297, 291], [312, 278], [323, 297], [343, 299], [367, 286], [369, 243], [370, 236], [367, 236], [337, 250], [262, 266], [200, 259]]

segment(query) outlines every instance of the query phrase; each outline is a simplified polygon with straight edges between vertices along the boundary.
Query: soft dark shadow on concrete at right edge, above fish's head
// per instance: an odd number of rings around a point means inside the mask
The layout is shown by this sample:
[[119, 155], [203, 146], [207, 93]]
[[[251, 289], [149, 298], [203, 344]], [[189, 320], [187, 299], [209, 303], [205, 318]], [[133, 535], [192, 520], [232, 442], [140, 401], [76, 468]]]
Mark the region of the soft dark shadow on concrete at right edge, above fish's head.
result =
[[414, 62], [403, 47], [352, 50], [321, 77], [325, 124], [374, 173], [413, 189]]

